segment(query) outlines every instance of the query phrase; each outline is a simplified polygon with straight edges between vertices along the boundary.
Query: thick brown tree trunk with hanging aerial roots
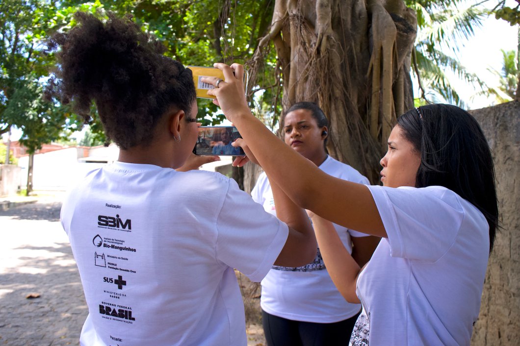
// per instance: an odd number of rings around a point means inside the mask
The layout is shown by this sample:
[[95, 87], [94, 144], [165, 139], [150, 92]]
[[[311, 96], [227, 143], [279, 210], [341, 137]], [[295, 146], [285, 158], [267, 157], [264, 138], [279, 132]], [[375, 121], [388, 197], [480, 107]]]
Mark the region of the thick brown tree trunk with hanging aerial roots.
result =
[[249, 62], [252, 83], [274, 42], [283, 109], [314, 101], [330, 119], [332, 156], [379, 180], [396, 115], [413, 107], [417, 20], [401, 0], [277, 0], [271, 30]]

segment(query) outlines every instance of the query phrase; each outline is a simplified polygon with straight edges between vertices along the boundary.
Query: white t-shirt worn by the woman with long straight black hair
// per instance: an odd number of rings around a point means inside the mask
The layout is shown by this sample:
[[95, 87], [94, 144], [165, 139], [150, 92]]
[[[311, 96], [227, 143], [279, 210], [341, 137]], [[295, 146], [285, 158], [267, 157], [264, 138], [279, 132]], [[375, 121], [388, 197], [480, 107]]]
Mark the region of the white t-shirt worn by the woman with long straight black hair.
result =
[[489, 256], [489, 226], [443, 187], [370, 186], [388, 238], [357, 282], [351, 345], [469, 345]]

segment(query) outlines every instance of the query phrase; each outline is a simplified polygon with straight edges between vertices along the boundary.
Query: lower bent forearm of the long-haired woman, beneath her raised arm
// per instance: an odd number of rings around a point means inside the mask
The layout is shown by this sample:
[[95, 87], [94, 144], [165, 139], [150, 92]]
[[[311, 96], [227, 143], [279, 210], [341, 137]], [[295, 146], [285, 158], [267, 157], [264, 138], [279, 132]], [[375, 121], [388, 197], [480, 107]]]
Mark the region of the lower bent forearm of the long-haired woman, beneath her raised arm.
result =
[[313, 226], [325, 267], [341, 295], [350, 303], [359, 303], [356, 281], [359, 265], [343, 246], [332, 223], [313, 216]]

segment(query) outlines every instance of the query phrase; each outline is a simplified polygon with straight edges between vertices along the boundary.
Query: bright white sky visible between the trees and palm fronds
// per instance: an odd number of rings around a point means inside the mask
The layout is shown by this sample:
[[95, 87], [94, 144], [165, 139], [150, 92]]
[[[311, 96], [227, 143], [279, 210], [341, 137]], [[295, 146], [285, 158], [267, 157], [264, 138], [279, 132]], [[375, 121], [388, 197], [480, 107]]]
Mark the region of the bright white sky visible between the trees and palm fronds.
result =
[[[514, 7], [516, 4], [514, 0], [506, 2], [506, 5], [510, 7]], [[468, 71], [476, 73], [490, 86], [496, 87], [498, 86], [498, 78], [490, 73], [488, 68], [501, 71], [503, 58], [500, 49], [516, 50], [517, 45], [518, 24], [511, 26], [504, 20], [497, 20], [494, 16], [490, 16], [483, 21], [482, 28], [475, 29], [475, 35], [472, 38], [462, 43], [459, 61]], [[479, 109], [491, 105], [490, 101], [485, 97], [470, 99], [476, 92], [472, 86], [466, 85], [461, 81], [453, 82], [453, 85], [466, 101], [467, 108]], [[416, 93], [416, 95], [419, 94]], [[11, 140], [18, 140], [20, 136], [20, 130], [14, 129], [11, 134]], [[80, 132], [77, 132], [76, 137], [80, 140], [83, 136]], [[4, 140], [6, 139], [4, 138]]]

